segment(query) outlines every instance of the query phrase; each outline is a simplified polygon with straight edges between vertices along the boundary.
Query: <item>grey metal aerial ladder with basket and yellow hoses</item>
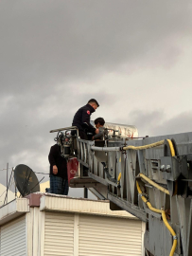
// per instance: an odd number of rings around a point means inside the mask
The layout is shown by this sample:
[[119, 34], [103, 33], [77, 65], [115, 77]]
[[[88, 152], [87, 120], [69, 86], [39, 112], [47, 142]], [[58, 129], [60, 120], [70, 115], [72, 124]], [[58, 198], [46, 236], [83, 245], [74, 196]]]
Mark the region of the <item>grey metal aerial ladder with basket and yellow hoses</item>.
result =
[[73, 126], [50, 131], [58, 132], [68, 163], [79, 162], [70, 187], [88, 188], [110, 200], [111, 210], [145, 222], [147, 256], [191, 256], [192, 133], [138, 137], [135, 126], [105, 128], [104, 139], [96, 141], [81, 139]]

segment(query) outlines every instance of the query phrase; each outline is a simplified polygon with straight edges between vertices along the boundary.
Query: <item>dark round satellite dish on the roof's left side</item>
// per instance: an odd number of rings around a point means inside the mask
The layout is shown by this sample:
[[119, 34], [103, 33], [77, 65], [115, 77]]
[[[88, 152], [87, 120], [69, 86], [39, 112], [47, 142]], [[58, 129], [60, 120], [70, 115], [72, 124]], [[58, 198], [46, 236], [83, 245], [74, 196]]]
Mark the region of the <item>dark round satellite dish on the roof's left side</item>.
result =
[[22, 196], [40, 191], [40, 183], [36, 174], [25, 164], [19, 164], [15, 167], [14, 180]]

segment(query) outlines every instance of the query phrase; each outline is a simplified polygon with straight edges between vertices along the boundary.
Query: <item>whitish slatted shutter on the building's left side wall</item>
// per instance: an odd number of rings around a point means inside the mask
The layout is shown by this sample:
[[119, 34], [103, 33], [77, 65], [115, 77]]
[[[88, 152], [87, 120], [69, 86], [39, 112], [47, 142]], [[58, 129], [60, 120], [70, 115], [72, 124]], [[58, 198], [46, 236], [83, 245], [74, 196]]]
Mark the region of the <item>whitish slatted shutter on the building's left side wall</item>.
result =
[[26, 256], [26, 215], [1, 227], [0, 255]]

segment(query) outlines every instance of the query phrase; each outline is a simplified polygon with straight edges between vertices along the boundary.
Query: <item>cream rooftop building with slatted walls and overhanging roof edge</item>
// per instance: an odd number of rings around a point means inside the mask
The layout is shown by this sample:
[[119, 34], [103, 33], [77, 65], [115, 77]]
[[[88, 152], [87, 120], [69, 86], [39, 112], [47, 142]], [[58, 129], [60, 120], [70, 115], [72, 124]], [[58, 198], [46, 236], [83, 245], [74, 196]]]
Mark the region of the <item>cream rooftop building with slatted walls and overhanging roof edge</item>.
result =
[[0, 209], [1, 256], [142, 256], [144, 232], [109, 201], [39, 192]]

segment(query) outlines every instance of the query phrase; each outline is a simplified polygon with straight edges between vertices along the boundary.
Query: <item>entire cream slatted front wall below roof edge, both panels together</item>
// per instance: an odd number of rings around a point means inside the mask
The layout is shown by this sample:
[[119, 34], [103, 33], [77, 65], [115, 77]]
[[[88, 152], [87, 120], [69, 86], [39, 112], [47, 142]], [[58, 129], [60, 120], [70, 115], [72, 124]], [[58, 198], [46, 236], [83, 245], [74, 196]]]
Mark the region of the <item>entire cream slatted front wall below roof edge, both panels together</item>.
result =
[[44, 256], [141, 256], [142, 223], [88, 214], [45, 212]]

